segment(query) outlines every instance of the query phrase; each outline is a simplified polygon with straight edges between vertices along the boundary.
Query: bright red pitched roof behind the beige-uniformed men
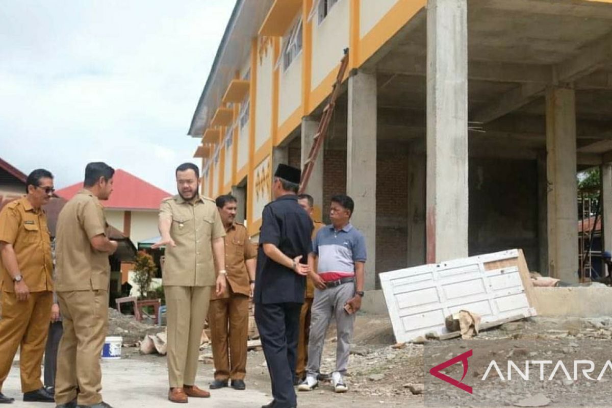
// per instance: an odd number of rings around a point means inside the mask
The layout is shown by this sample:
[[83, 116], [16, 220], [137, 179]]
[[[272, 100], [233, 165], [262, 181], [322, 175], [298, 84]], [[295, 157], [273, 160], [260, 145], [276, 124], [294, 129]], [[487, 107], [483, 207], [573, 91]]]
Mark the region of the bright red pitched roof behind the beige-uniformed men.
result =
[[[83, 184], [77, 183], [57, 190], [55, 194], [69, 200], [81, 188]], [[170, 196], [168, 191], [163, 191], [127, 171], [117, 169], [113, 177], [113, 193], [108, 201], [101, 202], [108, 209], [158, 210], [162, 199]]]

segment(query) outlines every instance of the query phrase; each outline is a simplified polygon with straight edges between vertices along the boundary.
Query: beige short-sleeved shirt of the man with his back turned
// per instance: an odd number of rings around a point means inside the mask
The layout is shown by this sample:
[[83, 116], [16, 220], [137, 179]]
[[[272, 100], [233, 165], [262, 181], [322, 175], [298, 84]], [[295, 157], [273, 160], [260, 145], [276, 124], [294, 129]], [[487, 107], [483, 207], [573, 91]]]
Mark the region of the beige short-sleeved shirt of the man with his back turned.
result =
[[57, 292], [108, 291], [109, 254], [95, 250], [90, 241], [105, 229], [104, 209], [91, 191], [80, 190], [65, 204], [56, 232]]

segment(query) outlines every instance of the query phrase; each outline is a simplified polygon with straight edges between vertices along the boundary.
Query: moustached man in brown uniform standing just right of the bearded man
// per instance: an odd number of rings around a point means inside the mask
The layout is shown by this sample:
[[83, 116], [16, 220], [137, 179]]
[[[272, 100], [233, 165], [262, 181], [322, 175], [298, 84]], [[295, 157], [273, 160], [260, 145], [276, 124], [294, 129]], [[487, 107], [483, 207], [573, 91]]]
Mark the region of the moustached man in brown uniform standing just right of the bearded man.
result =
[[[212, 357], [215, 380], [211, 390], [228, 386], [244, 390], [247, 373], [248, 300], [253, 296], [257, 251], [250, 242], [247, 229], [236, 223], [234, 196], [218, 196], [215, 200], [225, 226], [225, 266], [228, 286], [221, 296], [214, 295], [208, 311], [211, 326]], [[228, 354], [229, 352], [229, 354]]]

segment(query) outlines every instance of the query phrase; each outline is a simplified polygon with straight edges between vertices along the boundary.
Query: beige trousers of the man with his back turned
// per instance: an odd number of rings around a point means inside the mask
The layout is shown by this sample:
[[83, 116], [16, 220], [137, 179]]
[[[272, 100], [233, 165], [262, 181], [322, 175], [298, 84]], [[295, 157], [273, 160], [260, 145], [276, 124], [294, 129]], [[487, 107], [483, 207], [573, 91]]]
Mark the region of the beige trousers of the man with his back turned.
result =
[[102, 402], [100, 354], [108, 327], [108, 291], [58, 292], [64, 335], [59, 342], [55, 402]]

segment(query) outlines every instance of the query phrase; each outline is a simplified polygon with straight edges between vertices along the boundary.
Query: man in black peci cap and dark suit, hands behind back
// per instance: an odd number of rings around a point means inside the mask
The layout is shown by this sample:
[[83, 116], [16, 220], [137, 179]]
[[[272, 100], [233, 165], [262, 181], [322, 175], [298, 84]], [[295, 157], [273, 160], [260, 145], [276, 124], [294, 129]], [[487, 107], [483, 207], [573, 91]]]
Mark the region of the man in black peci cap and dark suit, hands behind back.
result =
[[278, 165], [259, 234], [253, 302], [274, 397], [263, 408], [297, 406], [293, 373], [313, 229], [297, 204], [299, 183], [299, 169]]

